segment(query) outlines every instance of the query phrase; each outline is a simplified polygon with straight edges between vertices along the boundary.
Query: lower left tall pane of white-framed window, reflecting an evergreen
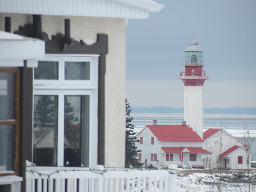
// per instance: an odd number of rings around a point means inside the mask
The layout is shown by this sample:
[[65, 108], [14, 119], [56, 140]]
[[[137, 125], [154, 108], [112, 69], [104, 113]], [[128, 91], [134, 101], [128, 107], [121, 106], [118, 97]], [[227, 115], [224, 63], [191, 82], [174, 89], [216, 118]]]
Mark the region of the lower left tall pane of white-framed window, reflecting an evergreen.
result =
[[38, 166], [57, 165], [58, 97], [34, 95], [34, 154]]

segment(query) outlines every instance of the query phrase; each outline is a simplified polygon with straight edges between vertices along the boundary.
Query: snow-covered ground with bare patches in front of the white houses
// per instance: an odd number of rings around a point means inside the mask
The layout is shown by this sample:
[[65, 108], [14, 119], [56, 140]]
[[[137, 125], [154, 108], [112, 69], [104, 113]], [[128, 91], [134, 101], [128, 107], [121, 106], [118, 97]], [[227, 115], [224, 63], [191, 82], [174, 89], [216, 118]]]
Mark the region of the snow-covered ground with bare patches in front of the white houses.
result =
[[[250, 171], [250, 191], [256, 191], [256, 169]], [[247, 173], [241, 170], [184, 170], [178, 171], [178, 192], [249, 191]]]

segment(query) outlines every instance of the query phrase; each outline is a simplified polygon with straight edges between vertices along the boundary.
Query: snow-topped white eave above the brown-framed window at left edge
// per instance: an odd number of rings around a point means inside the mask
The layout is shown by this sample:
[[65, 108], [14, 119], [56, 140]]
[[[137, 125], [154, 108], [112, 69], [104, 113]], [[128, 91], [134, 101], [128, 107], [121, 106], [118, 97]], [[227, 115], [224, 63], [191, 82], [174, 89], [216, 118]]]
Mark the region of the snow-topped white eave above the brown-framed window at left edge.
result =
[[37, 67], [37, 60], [45, 57], [45, 42], [0, 31], [0, 67]]

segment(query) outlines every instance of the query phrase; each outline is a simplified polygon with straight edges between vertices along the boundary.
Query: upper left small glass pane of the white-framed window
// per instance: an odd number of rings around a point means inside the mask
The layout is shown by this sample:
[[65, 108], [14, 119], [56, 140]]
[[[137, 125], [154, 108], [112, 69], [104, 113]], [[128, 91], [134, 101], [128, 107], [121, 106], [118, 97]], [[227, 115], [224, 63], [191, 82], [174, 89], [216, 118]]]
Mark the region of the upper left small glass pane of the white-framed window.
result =
[[58, 79], [58, 61], [38, 61], [35, 68], [35, 79]]

